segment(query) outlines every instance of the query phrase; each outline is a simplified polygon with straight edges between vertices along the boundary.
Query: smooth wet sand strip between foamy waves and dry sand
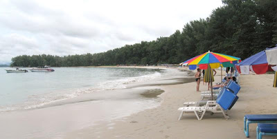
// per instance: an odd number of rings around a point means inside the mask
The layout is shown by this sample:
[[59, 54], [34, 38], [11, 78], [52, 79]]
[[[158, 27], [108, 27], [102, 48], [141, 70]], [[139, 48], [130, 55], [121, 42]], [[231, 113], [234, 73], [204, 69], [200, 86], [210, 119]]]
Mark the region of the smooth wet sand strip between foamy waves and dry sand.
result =
[[[177, 74], [173, 72], [175, 70], [177, 69], [170, 70], [170, 76], [135, 83], [126, 89], [113, 89], [100, 94], [84, 94], [68, 99], [65, 100], [65, 105], [57, 102], [38, 109], [3, 112], [0, 114], [0, 130], [3, 131], [1, 138], [62, 138], [71, 131], [96, 125], [97, 121], [124, 118], [129, 114], [158, 107], [162, 100], [157, 96], [164, 92], [160, 86], [179, 84], [178, 80], [186, 79], [181, 76], [172, 78], [172, 74]], [[184, 73], [179, 72], [186, 76]], [[12, 131], [17, 131], [17, 135], [12, 134]]]

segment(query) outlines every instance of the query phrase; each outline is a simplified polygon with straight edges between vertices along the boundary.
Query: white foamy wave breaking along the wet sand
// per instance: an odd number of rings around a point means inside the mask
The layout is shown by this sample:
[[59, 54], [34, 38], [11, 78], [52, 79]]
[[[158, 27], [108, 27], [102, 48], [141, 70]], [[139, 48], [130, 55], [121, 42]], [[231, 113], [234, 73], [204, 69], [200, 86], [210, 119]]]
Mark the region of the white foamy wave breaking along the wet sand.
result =
[[60, 90], [57, 92], [50, 92], [42, 95], [32, 95], [32, 96], [29, 96], [28, 100], [23, 104], [0, 106], [0, 112], [16, 111], [16, 110], [24, 110], [24, 109], [36, 109], [39, 107], [43, 107], [44, 105], [55, 103], [57, 101], [66, 100], [69, 98], [75, 98], [82, 94], [95, 93], [95, 92], [100, 92], [104, 90], [125, 89], [129, 84], [150, 81], [159, 77], [161, 77], [161, 73], [154, 72], [152, 74], [146, 74], [143, 76], [133, 76], [133, 77], [127, 77], [127, 78], [120, 78], [113, 81], [104, 81], [90, 88], [80, 88], [80, 89], [75, 89], [73, 91]]

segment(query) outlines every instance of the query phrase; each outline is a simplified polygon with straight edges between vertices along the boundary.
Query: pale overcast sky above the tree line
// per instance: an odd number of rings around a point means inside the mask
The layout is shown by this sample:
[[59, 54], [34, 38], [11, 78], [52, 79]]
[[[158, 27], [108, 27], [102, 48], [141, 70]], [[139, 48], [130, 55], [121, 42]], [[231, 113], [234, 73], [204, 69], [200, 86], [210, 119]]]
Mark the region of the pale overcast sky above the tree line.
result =
[[98, 53], [170, 36], [221, 0], [1, 0], [0, 64], [22, 54]]

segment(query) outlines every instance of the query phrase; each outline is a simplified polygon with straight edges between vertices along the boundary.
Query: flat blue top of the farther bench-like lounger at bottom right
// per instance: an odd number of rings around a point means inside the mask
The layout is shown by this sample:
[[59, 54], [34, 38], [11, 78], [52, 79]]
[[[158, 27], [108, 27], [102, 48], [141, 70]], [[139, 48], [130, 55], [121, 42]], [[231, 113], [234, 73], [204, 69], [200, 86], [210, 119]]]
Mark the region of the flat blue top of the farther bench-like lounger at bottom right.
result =
[[244, 117], [251, 121], [277, 120], [277, 114], [248, 114]]

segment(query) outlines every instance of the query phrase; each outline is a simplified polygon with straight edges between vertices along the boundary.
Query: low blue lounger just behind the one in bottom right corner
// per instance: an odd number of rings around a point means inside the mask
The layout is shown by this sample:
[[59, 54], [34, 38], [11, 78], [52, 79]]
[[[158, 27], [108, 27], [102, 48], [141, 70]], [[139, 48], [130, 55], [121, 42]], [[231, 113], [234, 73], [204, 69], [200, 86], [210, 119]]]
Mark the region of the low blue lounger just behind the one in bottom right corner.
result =
[[244, 133], [249, 137], [249, 124], [277, 122], [277, 114], [248, 114], [244, 116]]

